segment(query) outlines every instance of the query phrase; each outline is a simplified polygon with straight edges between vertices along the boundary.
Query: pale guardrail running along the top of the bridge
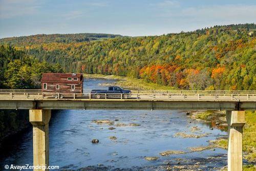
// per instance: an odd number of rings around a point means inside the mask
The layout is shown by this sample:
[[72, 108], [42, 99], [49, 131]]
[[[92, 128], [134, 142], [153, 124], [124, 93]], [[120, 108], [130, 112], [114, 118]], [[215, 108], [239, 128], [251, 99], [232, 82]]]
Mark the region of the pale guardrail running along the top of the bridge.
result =
[[[250, 92], [250, 93], [248, 93]], [[91, 100], [91, 99], [136, 99], [136, 100], [164, 100], [164, 101], [250, 101], [256, 102], [255, 91], [138, 91], [130, 94], [121, 93], [91, 93], [85, 90], [83, 93], [52, 93], [39, 90], [0, 90], [0, 100]]]

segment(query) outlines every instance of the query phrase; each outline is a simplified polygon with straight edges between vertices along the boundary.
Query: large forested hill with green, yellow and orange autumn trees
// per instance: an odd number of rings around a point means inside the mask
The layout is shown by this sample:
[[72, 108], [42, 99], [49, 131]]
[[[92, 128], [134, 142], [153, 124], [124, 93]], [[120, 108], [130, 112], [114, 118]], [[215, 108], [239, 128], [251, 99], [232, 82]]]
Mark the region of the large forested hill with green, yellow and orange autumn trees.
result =
[[17, 44], [66, 71], [114, 74], [184, 89], [256, 90], [256, 25], [102, 41]]

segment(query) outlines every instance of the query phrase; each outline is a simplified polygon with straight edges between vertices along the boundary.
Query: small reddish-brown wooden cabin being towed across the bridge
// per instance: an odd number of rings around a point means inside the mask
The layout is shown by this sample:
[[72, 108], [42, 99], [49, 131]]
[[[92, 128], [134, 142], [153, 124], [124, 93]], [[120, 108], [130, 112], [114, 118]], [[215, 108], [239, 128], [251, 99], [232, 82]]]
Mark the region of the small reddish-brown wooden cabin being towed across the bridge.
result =
[[43, 73], [42, 92], [82, 93], [82, 74]]

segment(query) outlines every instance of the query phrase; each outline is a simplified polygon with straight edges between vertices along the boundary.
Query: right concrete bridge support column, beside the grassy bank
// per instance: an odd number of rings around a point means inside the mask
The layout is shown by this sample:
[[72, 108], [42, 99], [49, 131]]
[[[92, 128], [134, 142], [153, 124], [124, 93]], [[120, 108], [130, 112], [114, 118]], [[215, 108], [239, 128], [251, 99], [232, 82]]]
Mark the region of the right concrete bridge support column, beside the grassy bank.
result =
[[228, 171], [242, 171], [245, 111], [226, 111], [226, 117], [228, 124]]

